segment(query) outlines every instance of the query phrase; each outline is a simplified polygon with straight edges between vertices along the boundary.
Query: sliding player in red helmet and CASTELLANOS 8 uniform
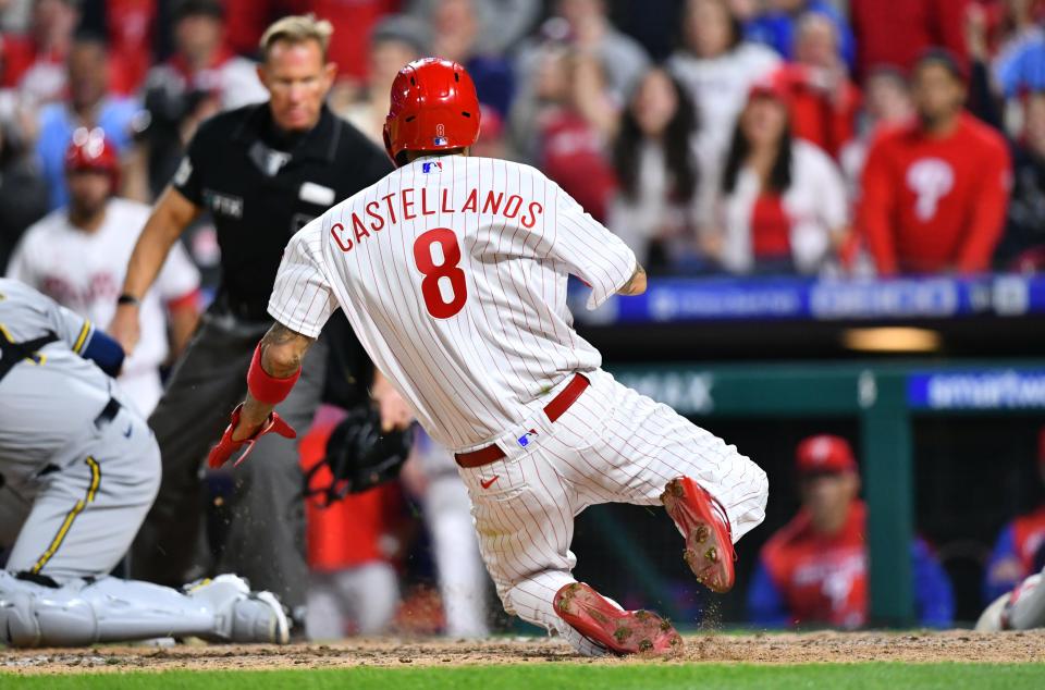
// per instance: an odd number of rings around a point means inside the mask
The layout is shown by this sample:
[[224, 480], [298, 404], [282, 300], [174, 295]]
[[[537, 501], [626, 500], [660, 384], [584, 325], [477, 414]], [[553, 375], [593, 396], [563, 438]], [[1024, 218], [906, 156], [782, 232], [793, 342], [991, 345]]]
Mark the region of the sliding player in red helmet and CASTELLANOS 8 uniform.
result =
[[574, 516], [663, 503], [697, 579], [726, 592], [734, 542], [765, 516], [765, 472], [600, 368], [571, 328], [567, 274], [591, 286], [594, 309], [642, 293], [646, 272], [537, 170], [470, 158], [478, 134], [460, 65], [426, 59], [398, 73], [384, 127], [398, 170], [287, 245], [269, 301], [276, 322], [209, 461], [293, 434], [273, 407], [340, 307], [429, 434], [454, 449], [505, 611], [585, 654], [678, 650], [669, 623], [574, 580]]

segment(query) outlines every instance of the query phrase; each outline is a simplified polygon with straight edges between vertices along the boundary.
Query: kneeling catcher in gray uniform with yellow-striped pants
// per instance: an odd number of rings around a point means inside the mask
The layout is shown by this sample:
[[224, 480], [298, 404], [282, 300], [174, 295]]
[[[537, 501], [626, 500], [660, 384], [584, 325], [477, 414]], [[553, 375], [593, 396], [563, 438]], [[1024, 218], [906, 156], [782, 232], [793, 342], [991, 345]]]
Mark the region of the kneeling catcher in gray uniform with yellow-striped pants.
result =
[[286, 642], [279, 601], [242, 578], [182, 592], [109, 577], [160, 478], [156, 439], [111, 378], [122, 362], [89, 321], [0, 279], [0, 644]]

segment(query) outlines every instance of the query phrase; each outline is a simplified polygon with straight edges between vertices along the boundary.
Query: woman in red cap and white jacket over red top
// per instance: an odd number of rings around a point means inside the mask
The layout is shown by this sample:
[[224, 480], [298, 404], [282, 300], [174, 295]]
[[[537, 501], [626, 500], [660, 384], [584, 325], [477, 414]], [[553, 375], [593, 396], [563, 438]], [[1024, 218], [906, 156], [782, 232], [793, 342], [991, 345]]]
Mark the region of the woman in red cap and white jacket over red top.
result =
[[841, 174], [791, 136], [787, 90], [762, 82], [737, 123], [716, 205], [717, 255], [733, 273], [814, 274], [848, 235]]

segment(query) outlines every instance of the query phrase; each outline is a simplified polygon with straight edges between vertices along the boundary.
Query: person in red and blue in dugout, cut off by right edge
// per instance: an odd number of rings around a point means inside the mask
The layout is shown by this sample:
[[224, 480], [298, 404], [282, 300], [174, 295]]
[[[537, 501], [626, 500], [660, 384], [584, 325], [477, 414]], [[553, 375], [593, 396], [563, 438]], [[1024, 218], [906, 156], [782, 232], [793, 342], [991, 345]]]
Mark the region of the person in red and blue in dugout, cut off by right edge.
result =
[[[1038, 434], [1037, 467], [1045, 481], [1045, 427]], [[984, 602], [1005, 594], [1036, 572], [1035, 555], [1045, 546], [1045, 503], [1001, 528], [983, 581]]]

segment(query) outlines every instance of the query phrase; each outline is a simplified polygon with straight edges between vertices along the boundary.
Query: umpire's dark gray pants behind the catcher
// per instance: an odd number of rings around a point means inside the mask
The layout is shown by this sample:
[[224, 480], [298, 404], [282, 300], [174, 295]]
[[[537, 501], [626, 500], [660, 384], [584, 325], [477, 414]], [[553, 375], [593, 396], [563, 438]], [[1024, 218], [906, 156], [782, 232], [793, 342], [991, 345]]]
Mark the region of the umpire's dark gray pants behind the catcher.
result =
[[[247, 391], [246, 375], [258, 341], [271, 323], [207, 313], [179, 360], [149, 418], [163, 460], [156, 505], [131, 552], [131, 576], [179, 586], [210, 572], [236, 572], [254, 589], [269, 590], [294, 611], [305, 604], [305, 513], [297, 443], [262, 438], [249, 459], [230, 471], [234, 490], [219, 562], [204, 546], [204, 460]], [[327, 348], [316, 343], [302, 377], [276, 411], [305, 435], [323, 390]]]

